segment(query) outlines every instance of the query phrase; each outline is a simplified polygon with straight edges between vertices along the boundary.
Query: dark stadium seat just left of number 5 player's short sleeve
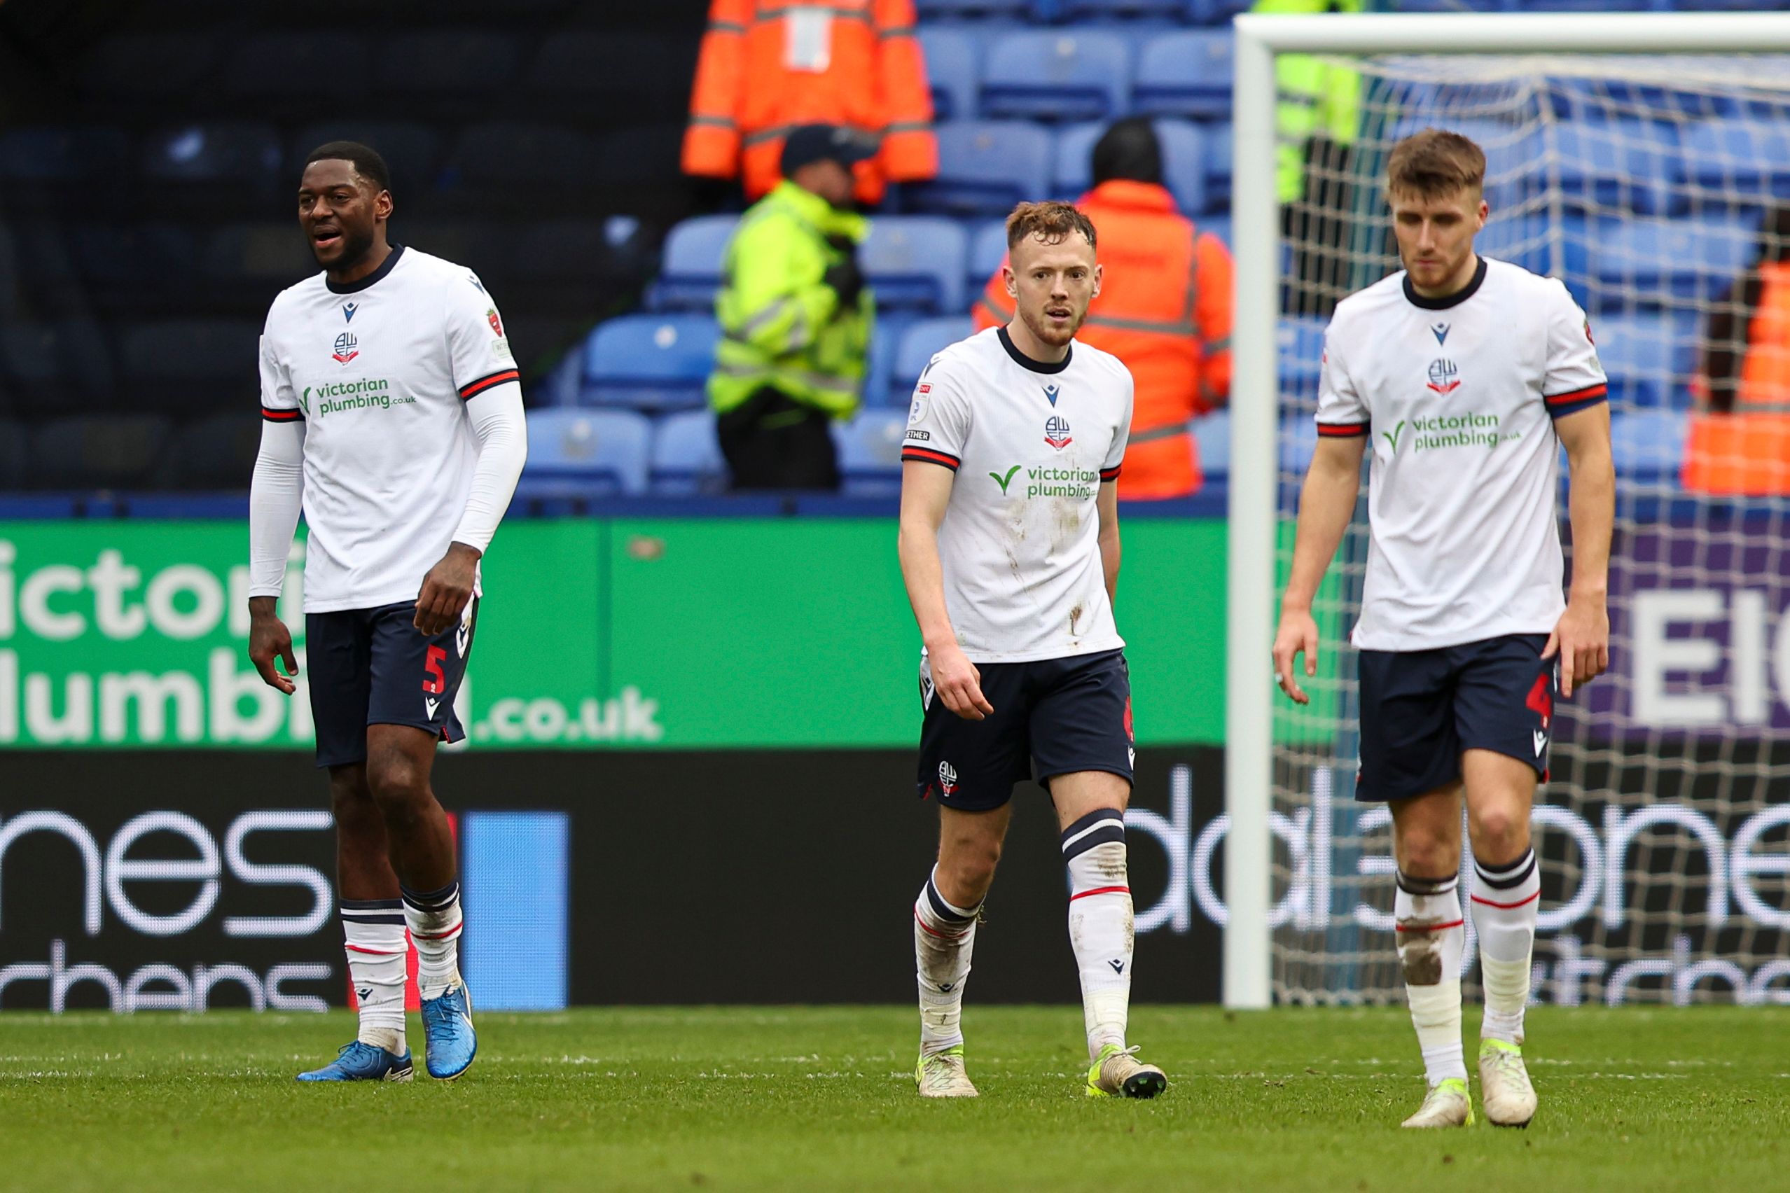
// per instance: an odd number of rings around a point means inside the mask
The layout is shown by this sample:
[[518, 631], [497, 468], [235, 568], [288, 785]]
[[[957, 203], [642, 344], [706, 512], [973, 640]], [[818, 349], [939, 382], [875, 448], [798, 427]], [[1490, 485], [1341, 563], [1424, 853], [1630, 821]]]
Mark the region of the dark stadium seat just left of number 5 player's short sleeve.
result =
[[213, 413], [256, 404], [260, 318], [158, 318], [118, 336], [118, 374], [131, 404]]

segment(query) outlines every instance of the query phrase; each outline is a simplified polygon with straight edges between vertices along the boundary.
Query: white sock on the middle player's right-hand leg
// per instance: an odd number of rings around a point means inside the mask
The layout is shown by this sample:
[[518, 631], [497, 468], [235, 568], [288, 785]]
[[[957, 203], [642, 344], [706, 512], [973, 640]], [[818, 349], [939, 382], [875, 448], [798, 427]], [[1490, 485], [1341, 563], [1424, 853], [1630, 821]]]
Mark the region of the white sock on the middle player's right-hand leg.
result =
[[1069, 866], [1069, 943], [1081, 971], [1081, 1016], [1088, 1059], [1104, 1045], [1124, 1048], [1131, 1012], [1131, 884], [1126, 875], [1124, 812], [1088, 812], [1063, 830]]

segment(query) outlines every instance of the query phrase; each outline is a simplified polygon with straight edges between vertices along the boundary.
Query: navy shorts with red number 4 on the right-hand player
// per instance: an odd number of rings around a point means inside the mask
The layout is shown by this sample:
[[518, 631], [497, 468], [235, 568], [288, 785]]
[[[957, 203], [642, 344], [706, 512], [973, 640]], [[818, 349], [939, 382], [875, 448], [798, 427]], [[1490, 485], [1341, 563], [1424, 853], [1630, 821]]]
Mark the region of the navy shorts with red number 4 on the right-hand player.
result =
[[1360, 651], [1355, 798], [1409, 800], [1461, 778], [1462, 749], [1522, 758], [1547, 782], [1557, 660], [1545, 633], [1432, 651]]

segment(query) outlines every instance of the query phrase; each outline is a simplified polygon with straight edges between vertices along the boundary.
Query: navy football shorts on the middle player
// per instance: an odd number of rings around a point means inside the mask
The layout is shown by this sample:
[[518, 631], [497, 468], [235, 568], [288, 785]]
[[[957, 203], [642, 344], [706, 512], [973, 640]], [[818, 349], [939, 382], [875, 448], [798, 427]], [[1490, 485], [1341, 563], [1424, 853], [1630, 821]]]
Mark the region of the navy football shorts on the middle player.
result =
[[933, 690], [920, 662], [920, 771], [916, 791], [947, 808], [992, 812], [1013, 785], [1056, 774], [1110, 771], [1131, 782], [1131, 671], [1124, 651], [976, 664], [993, 715], [965, 721]]

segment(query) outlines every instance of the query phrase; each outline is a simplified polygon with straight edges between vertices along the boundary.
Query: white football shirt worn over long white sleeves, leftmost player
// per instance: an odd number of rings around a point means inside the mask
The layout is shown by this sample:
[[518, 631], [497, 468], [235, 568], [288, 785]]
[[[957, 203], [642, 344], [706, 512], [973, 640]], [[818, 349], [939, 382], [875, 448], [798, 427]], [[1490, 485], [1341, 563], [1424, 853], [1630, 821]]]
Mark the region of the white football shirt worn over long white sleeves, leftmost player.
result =
[[478, 277], [394, 247], [369, 277], [283, 290], [261, 333], [261, 417], [304, 420], [304, 612], [413, 601], [465, 512], [465, 402], [517, 385]]

